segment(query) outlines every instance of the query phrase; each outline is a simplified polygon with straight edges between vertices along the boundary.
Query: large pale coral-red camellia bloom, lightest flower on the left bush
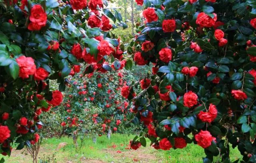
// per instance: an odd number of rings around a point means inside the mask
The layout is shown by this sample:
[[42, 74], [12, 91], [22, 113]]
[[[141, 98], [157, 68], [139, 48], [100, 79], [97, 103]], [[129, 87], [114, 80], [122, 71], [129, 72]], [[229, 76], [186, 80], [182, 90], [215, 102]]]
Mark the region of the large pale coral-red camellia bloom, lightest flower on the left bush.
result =
[[16, 61], [20, 67], [19, 77], [22, 79], [28, 78], [29, 75], [33, 75], [36, 72], [36, 65], [33, 58], [22, 55]]

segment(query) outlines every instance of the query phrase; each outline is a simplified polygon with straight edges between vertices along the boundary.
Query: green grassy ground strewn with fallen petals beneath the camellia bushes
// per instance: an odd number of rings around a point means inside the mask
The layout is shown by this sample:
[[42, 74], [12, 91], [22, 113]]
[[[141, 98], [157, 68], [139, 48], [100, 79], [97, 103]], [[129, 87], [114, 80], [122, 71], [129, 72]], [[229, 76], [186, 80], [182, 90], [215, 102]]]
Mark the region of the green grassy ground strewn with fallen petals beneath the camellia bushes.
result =
[[[204, 150], [194, 144], [188, 144], [184, 149], [171, 149], [170, 151], [155, 150], [149, 147], [141, 147], [138, 150], [126, 149], [130, 139], [134, 136], [113, 134], [109, 140], [106, 136], [97, 137], [94, 144], [91, 138], [87, 138], [82, 147], [76, 149], [71, 137], [61, 139], [51, 138], [43, 141], [39, 157], [53, 163], [198, 163], [202, 162]], [[68, 143], [60, 150], [56, 150], [59, 143]], [[78, 141], [80, 144], [80, 141]], [[118, 153], [117, 151], [121, 151]], [[237, 149], [231, 149], [231, 159], [238, 159], [240, 153]], [[5, 157], [6, 163], [32, 163], [26, 150], [14, 150], [10, 158]], [[40, 161], [38, 161], [40, 162]]]

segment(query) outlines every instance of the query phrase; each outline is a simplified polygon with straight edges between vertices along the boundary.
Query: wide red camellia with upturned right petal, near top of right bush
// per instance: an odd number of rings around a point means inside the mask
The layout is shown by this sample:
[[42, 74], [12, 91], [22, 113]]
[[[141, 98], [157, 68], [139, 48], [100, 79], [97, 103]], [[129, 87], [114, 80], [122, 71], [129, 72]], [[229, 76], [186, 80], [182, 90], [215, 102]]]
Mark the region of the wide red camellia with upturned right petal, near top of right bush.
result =
[[200, 12], [196, 18], [196, 24], [198, 24], [200, 27], [212, 27], [214, 26], [217, 15], [215, 13], [212, 13], [214, 15], [214, 18], [211, 18], [204, 12]]

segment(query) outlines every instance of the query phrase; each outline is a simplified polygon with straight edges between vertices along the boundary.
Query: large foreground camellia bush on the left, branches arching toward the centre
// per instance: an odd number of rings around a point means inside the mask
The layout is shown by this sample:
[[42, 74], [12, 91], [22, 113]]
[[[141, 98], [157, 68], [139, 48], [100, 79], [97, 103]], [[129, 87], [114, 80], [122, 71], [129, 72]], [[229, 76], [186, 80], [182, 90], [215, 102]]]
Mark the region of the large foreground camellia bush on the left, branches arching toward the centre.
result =
[[13, 143], [38, 143], [40, 114], [61, 104], [66, 77], [81, 63], [87, 74], [132, 61], [122, 59], [124, 45], [111, 32], [127, 26], [106, 0], [4, 0], [0, 8], [0, 153], [10, 156]]

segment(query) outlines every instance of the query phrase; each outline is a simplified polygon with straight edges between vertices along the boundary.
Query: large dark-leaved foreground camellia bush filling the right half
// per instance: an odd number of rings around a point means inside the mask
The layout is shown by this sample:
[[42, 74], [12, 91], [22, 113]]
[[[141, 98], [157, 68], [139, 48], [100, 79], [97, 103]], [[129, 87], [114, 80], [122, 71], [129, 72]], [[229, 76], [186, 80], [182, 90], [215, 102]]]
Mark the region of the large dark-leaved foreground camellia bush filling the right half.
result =
[[[141, 92], [123, 87], [147, 128], [130, 145], [202, 148], [204, 163], [230, 163], [230, 147], [256, 162], [256, 2], [136, 0], [143, 5], [130, 43], [136, 65], [154, 64]], [[127, 93], [127, 91], [129, 93]], [[216, 157], [215, 157], [216, 156]]]

